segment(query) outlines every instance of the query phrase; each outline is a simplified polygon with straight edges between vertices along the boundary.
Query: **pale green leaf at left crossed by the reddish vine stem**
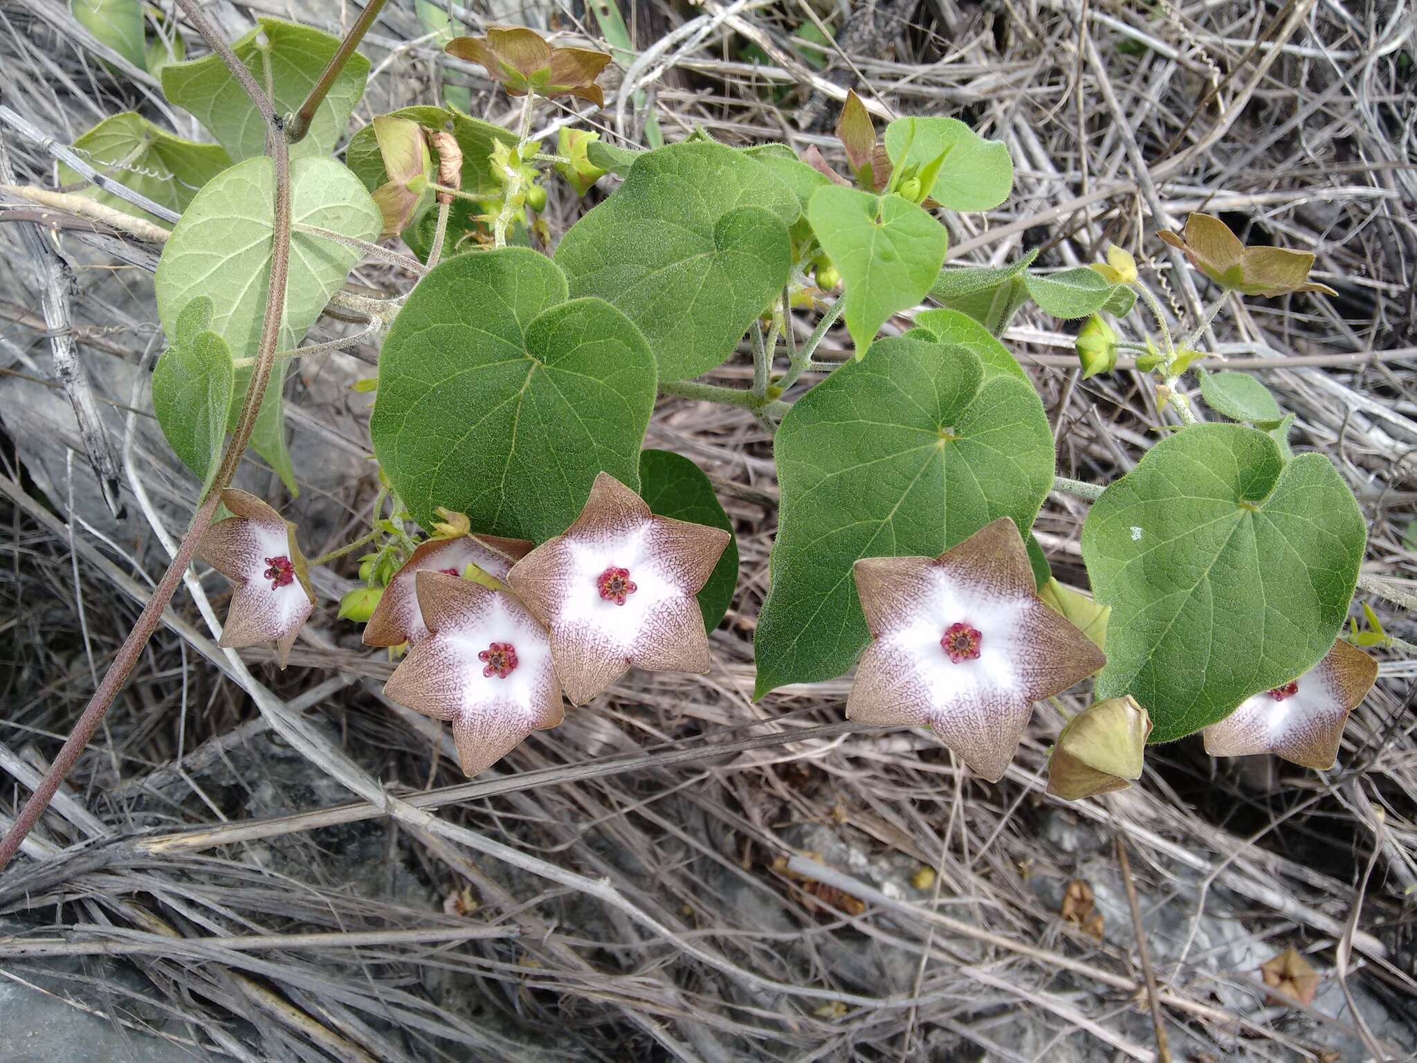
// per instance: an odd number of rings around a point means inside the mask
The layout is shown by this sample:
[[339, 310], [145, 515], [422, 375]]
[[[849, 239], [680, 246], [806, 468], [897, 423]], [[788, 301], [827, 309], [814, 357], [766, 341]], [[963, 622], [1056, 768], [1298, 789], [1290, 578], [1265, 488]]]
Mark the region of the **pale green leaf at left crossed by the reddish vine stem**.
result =
[[[211, 299], [211, 330], [231, 347], [234, 359], [254, 359], [271, 276], [271, 227], [275, 171], [266, 157], [222, 170], [197, 193], [173, 227], [153, 279], [157, 316], [176, 342], [177, 316], [193, 299]], [[377, 240], [381, 218], [364, 187], [333, 159], [290, 163], [290, 215], [298, 224], [333, 230], [357, 240]], [[293, 349], [344, 283], [360, 252], [344, 244], [293, 232], [290, 271], [278, 347]], [[281, 386], [288, 361], [271, 374], [251, 445], [295, 490], [295, 472], [285, 449]], [[235, 425], [249, 369], [239, 369], [228, 427]]]

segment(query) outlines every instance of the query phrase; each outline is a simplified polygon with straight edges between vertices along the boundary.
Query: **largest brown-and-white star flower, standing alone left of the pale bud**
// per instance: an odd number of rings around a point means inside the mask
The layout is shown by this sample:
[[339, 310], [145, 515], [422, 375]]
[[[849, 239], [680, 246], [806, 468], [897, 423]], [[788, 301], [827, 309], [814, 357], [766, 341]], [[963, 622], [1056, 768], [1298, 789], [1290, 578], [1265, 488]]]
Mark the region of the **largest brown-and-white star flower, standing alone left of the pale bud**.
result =
[[996, 782], [1033, 702], [1107, 658], [1034, 592], [1019, 529], [1000, 517], [931, 557], [866, 557], [856, 590], [874, 639], [846, 703], [853, 720], [931, 727]]

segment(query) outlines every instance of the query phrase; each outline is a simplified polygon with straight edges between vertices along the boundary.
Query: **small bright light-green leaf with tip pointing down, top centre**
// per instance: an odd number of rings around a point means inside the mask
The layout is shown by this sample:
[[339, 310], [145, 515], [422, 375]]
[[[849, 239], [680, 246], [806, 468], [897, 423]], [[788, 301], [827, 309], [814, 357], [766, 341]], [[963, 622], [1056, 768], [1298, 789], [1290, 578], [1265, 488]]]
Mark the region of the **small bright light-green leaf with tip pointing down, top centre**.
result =
[[840, 184], [812, 193], [808, 221], [846, 283], [846, 329], [856, 357], [886, 319], [915, 306], [939, 276], [944, 225], [900, 196], [873, 196]]

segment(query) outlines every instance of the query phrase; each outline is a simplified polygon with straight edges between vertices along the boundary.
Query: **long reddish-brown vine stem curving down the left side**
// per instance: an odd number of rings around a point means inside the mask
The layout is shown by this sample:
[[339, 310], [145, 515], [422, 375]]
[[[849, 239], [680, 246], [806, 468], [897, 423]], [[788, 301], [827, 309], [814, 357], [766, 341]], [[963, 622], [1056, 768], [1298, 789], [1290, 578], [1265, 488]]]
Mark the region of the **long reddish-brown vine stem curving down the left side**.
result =
[[187, 20], [200, 33], [211, 50], [217, 52], [227, 68], [232, 72], [241, 86], [245, 89], [251, 102], [255, 105], [256, 111], [266, 123], [266, 152], [269, 153], [275, 166], [275, 204], [272, 208], [272, 232], [271, 232], [271, 282], [266, 288], [266, 306], [265, 316], [261, 320], [261, 339], [256, 347], [256, 364], [251, 374], [251, 386], [247, 388], [245, 401], [241, 405], [241, 417], [237, 421], [237, 428], [231, 435], [231, 441], [227, 444], [227, 449], [221, 455], [221, 465], [217, 469], [217, 476], [207, 492], [207, 496], [201, 500], [197, 507], [197, 513], [193, 516], [191, 524], [187, 527], [187, 534], [183, 536], [181, 543], [177, 547], [177, 553], [167, 566], [167, 571], [163, 573], [163, 578], [157, 583], [157, 588], [153, 591], [152, 598], [149, 598], [147, 605], [143, 608], [142, 615], [133, 625], [133, 629], [128, 632], [128, 638], [123, 639], [123, 645], [118, 648], [118, 653], [113, 656], [113, 663], [109, 665], [108, 672], [103, 675], [103, 680], [98, 685], [89, 703], [84, 707], [84, 713], [79, 716], [74, 730], [68, 740], [64, 743], [64, 748], [54, 758], [50, 770], [44, 772], [44, 778], [40, 785], [35, 787], [30, 799], [26, 801], [24, 808], [16, 816], [14, 825], [6, 833], [4, 839], [0, 840], [0, 870], [10, 863], [14, 855], [20, 850], [20, 845], [24, 842], [26, 835], [34, 828], [40, 816], [44, 815], [44, 809], [50, 806], [50, 801], [58, 792], [60, 787], [64, 784], [65, 777], [74, 767], [74, 763], [84, 753], [88, 746], [89, 738], [98, 730], [99, 723], [103, 721], [103, 716], [108, 713], [109, 706], [118, 696], [118, 692], [128, 682], [133, 669], [137, 666], [137, 660], [143, 653], [143, 648], [147, 645], [147, 639], [152, 638], [157, 625], [162, 622], [163, 611], [166, 611], [169, 602], [171, 602], [173, 595], [177, 592], [177, 585], [181, 583], [183, 575], [187, 571], [187, 566], [191, 564], [193, 554], [197, 551], [197, 544], [201, 541], [203, 534], [211, 524], [211, 517], [217, 512], [217, 503], [221, 499], [221, 490], [230, 482], [232, 475], [235, 475], [237, 466], [241, 463], [241, 455], [247, 449], [247, 444], [251, 441], [251, 432], [255, 428], [256, 414], [261, 410], [261, 398], [265, 395], [266, 384], [271, 380], [271, 367], [275, 363], [276, 343], [281, 337], [281, 316], [285, 309], [285, 282], [289, 274], [290, 262], [290, 154], [289, 145], [285, 139], [285, 130], [281, 128], [281, 120], [276, 118], [275, 108], [271, 105], [269, 98], [265, 91], [256, 84], [255, 78], [251, 77], [251, 71], [245, 68], [245, 64], [235, 57], [231, 47], [221, 38], [207, 16], [203, 14], [201, 7], [197, 6], [196, 0], [177, 0], [177, 4], [183, 9]]

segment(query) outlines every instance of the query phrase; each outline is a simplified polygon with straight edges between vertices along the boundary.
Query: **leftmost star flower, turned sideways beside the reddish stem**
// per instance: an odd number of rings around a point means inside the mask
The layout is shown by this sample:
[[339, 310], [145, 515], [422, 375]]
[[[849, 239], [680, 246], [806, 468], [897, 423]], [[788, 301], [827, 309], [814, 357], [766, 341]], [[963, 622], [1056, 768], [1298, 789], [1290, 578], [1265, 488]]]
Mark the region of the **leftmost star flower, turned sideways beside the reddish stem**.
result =
[[197, 547], [197, 560], [237, 585], [221, 645], [241, 649], [275, 642], [276, 659], [285, 668], [296, 632], [315, 609], [295, 524], [235, 488], [221, 492], [221, 505], [234, 516], [208, 527]]

